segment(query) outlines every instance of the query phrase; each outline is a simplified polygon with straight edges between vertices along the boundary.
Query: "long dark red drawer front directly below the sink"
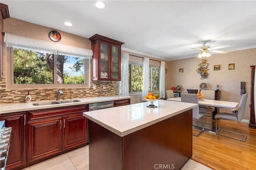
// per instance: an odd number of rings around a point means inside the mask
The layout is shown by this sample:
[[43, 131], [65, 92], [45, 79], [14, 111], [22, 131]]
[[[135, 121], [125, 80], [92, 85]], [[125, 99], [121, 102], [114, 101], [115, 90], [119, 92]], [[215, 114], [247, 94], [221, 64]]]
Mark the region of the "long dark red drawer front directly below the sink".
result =
[[78, 112], [82, 113], [85, 111], [88, 111], [88, 104], [32, 110], [32, 111], [28, 111], [28, 121], [34, 121], [38, 119], [48, 119], [52, 117], [70, 115]]

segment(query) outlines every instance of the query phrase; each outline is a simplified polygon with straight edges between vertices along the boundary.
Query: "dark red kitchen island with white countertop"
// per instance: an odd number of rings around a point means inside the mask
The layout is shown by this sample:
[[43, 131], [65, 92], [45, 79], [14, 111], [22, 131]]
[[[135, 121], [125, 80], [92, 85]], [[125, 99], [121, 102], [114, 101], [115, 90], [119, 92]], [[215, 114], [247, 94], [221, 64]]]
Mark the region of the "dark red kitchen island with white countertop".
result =
[[192, 108], [157, 100], [84, 112], [90, 170], [180, 169], [192, 156]]

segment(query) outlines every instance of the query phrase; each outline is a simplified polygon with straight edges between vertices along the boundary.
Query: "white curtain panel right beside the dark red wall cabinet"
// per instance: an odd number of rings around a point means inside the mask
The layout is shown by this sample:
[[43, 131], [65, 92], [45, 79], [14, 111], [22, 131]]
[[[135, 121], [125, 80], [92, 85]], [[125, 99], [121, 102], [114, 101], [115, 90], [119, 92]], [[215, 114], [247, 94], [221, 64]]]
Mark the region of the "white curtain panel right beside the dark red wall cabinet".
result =
[[119, 82], [119, 95], [129, 96], [128, 90], [128, 62], [129, 54], [121, 53], [121, 81]]

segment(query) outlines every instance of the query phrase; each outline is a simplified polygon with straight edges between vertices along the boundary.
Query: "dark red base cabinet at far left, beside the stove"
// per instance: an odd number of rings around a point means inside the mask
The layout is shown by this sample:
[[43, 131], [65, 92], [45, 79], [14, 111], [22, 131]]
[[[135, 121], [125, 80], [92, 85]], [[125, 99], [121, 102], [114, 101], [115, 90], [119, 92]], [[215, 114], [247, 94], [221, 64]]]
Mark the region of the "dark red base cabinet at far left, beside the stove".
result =
[[5, 127], [12, 127], [6, 169], [26, 164], [26, 112], [1, 114]]

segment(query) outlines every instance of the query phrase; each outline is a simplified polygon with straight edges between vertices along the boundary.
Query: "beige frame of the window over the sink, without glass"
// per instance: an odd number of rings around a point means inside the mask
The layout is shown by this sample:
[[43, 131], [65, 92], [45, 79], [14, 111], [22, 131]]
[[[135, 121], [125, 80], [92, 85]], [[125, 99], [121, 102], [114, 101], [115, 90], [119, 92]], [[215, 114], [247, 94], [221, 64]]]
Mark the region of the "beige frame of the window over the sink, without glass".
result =
[[[54, 55], [56, 58], [56, 55]], [[32, 88], [90, 88], [90, 59], [86, 59], [84, 66], [84, 84], [57, 84], [56, 59], [54, 60], [54, 84], [14, 84], [13, 75], [13, 48], [6, 47], [6, 89], [32, 89]]]

